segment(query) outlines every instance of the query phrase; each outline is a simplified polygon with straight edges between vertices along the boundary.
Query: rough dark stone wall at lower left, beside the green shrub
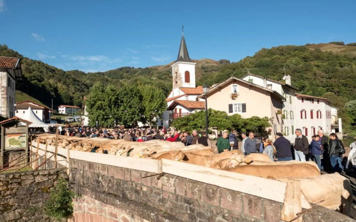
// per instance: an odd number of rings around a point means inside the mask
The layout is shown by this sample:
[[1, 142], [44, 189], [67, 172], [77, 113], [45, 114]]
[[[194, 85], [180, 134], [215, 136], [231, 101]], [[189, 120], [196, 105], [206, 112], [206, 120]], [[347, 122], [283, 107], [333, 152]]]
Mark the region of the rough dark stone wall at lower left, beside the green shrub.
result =
[[43, 212], [56, 180], [66, 169], [32, 170], [0, 174], [0, 222], [51, 221]]

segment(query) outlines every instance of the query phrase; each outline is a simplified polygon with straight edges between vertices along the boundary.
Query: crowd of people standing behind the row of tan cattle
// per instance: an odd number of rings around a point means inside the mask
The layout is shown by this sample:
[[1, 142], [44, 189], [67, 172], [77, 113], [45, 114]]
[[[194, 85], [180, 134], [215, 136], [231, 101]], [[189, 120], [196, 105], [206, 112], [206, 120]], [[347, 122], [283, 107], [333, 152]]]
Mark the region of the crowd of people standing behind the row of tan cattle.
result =
[[[52, 128], [52, 133], [56, 133], [56, 128]], [[102, 137], [108, 139], [119, 139], [126, 141], [150, 141], [150, 140], [166, 140], [170, 142], [182, 142], [185, 146], [192, 144], [201, 144], [203, 146], [211, 146], [209, 137], [205, 132], [182, 132], [175, 129], [153, 129], [153, 128], [132, 128], [125, 129], [123, 126], [116, 129], [98, 129], [86, 126], [72, 126], [67, 125], [59, 127], [59, 134], [77, 137]], [[222, 153], [228, 150], [240, 150], [244, 155], [250, 153], [265, 153], [272, 161], [290, 161], [295, 159], [297, 161], [314, 161], [320, 171], [328, 172], [344, 172], [342, 167], [342, 155], [345, 153], [344, 145], [335, 133], [331, 133], [330, 140], [328, 136], [324, 135], [323, 130], [319, 130], [318, 134], [312, 136], [312, 141], [309, 143], [308, 138], [302, 134], [301, 129], [295, 130], [294, 145], [289, 140], [283, 137], [283, 134], [277, 132], [275, 140], [272, 142], [269, 138], [262, 138], [255, 136], [253, 132], [249, 132], [248, 136], [245, 133], [238, 135], [236, 131], [230, 133], [226, 130], [219, 135], [216, 142], [216, 152]], [[241, 138], [241, 141], [239, 139]], [[239, 147], [241, 142], [241, 147]], [[354, 147], [352, 147], [354, 146]], [[355, 162], [356, 167], [356, 144], [350, 145], [354, 150], [349, 157], [349, 161]], [[348, 165], [349, 161], [346, 165]]]

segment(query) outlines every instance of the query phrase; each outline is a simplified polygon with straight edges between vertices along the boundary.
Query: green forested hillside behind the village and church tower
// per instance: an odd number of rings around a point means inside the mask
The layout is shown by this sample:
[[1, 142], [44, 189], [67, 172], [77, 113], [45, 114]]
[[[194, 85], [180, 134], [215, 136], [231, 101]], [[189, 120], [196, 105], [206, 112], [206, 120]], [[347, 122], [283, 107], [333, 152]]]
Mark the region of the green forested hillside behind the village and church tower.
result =
[[[341, 117], [347, 120], [343, 113], [344, 104], [356, 99], [356, 56], [347, 53], [345, 47], [353, 46], [343, 46], [344, 53], [323, 52], [315, 46], [308, 49], [310, 46], [263, 48], [255, 55], [247, 56], [236, 63], [228, 60], [217, 63], [204, 59], [202, 65], [199, 65], [197, 85], [218, 83], [231, 76], [242, 77], [248, 71], [275, 80], [282, 80], [285, 74], [289, 74], [292, 85], [300, 93], [329, 98], [334, 106], [340, 108]], [[53, 107], [60, 103], [81, 105], [83, 96], [98, 81], [118, 87], [124, 83], [150, 84], [162, 88], [166, 94], [172, 88], [168, 65], [150, 68], [121, 67], [86, 74], [78, 70], [63, 71], [41, 61], [25, 58], [6, 45], [0, 45], [0, 55], [22, 59], [25, 77], [18, 82], [16, 90], [27, 93], [48, 106], [53, 98]]]

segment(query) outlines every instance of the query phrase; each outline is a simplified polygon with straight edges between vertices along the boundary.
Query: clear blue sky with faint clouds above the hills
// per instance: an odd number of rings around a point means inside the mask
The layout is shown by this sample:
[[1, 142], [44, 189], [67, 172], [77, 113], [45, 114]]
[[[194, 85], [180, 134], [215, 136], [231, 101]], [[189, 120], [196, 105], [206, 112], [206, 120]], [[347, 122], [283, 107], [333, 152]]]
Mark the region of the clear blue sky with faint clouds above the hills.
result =
[[0, 44], [63, 70], [168, 64], [181, 27], [192, 59], [356, 42], [354, 0], [0, 0]]

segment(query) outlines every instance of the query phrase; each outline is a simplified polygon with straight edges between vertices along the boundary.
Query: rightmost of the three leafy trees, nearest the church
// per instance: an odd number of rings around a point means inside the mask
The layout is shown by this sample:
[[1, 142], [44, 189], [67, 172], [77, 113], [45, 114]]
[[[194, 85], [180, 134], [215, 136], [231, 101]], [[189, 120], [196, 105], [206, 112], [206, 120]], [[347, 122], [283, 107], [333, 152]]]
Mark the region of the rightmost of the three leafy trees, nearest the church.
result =
[[155, 86], [142, 85], [139, 90], [144, 108], [143, 122], [154, 124], [158, 117], [162, 117], [163, 112], [167, 110], [166, 96], [163, 90]]

